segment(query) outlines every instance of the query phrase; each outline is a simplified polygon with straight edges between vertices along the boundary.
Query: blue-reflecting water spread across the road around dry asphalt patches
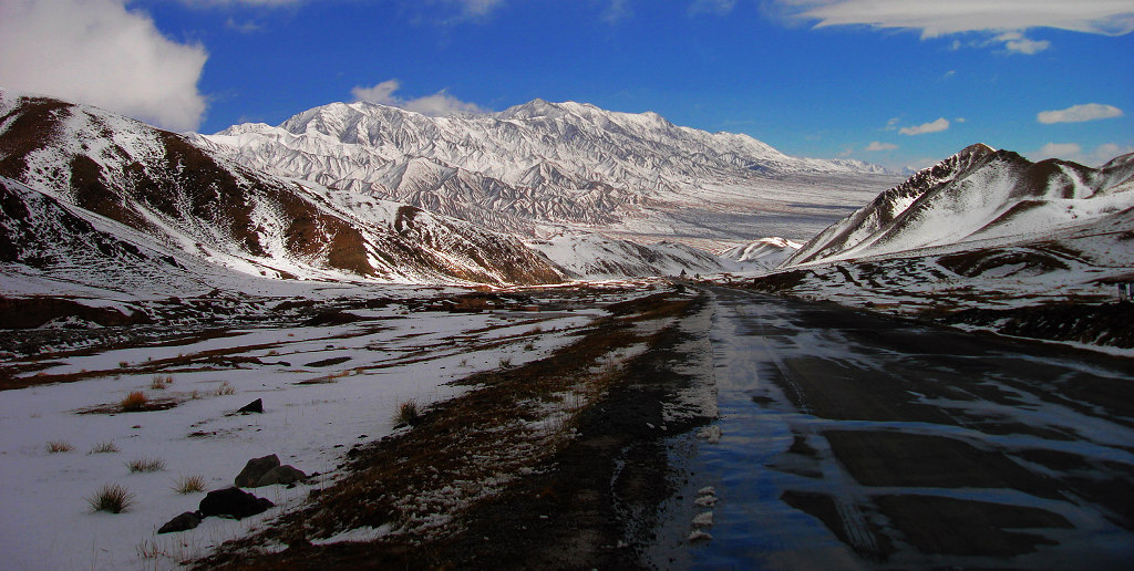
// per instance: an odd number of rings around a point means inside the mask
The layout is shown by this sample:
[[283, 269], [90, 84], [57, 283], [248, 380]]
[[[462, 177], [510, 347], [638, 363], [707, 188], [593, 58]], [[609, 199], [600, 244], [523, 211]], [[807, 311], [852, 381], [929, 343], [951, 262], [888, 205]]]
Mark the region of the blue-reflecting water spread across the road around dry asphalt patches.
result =
[[[968, 445], [962, 443], [971, 443], [981, 450], [988, 448], [988, 454], [1004, 459], [1010, 467], [1024, 469], [1027, 466], [1015, 466], [1021, 463], [1018, 458], [1009, 461], [1000, 454], [1015, 457], [1015, 451], [1019, 448], [1060, 450], [1080, 453], [1082, 458], [1092, 459], [1092, 463], [1099, 466], [1102, 460], [1126, 463], [1131, 460], [1128, 454], [1122, 449], [1110, 449], [1110, 445], [1118, 436], [1131, 436], [1128, 427], [1116, 425], [1109, 418], [1084, 418], [1090, 416], [1084, 414], [1090, 410], [1086, 407], [1072, 415], [1066, 401], [1058, 406], [1041, 402], [1031, 392], [1019, 393], [1014, 399], [1026, 404], [1019, 410], [1015, 410], [1019, 404], [1013, 406], [1009, 402], [993, 403], [982, 399], [945, 402], [940, 394], [937, 398], [908, 394], [908, 400], [915, 403], [966, 409], [972, 418], [965, 417], [963, 426], [934, 424], [926, 421], [929, 418], [919, 421], [913, 418], [889, 421], [838, 420], [818, 418], [807, 410], [797, 412], [790, 402], [798, 399], [789, 399], [785, 391], [798, 387], [793, 387], [788, 382], [792, 375], [787, 374], [787, 365], [790, 363], [785, 364], [781, 359], [806, 356], [809, 349], [814, 349], [818, 353], [812, 355], [832, 359], [841, 351], [844, 364], [857, 365], [862, 356], [869, 355], [870, 346], [844, 346], [836, 342], [846, 339], [841, 332], [836, 331], [824, 336], [815, 330], [798, 327], [785, 317], [790, 309], [780, 305], [765, 304], [764, 308], [755, 306], [751, 299], [744, 302], [721, 299], [718, 304], [712, 344], [721, 435], [719, 442], [705, 441], [695, 435], [670, 441], [670, 465], [678, 467], [680, 476], [675, 483], [678, 492], [662, 508], [661, 521], [667, 525], [657, 530], [658, 536], [648, 548], [646, 556], [653, 565], [661, 569], [864, 569], [878, 565], [1026, 568], [1076, 561], [1107, 564], [1134, 554], [1134, 535], [1108, 521], [1097, 506], [1082, 504], [1074, 495], [1070, 498], [1041, 497], [1043, 494], [1035, 496], [1010, 488], [972, 488], [964, 485], [863, 486], [836, 460], [831, 444], [823, 436], [832, 429], [863, 432], [866, 435], [870, 431], [922, 434], [936, 437], [941, 443], [955, 443], [954, 448]], [[760, 313], [770, 315], [759, 315]], [[769, 327], [760, 324], [764, 318], [770, 324]], [[887, 335], [894, 334], [900, 335], [899, 332], [887, 332]], [[925, 334], [932, 338], [929, 332]], [[888, 357], [894, 358], [895, 355]], [[904, 366], [908, 366], [911, 372], [920, 370], [926, 378], [936, 377], [937, 373], [948, 373], [947, 365], [954, 359], [962, 365], [958, 369], [965, 369], [954, 370], [954, 374], [988, 374], [990, 367], [997, 367], [996, 363], [990, 365], [979, 358], [965, 360], [970, 357], [949, 358], [942, 353], [921, 353], [919, 358], [904, 363]], [[898, 355], [897, 358], [900, 359], [902, 356]], [[872, 367], [887, 368], [887, 363], [891, 361], [882, 358]], [[932, 375], [926, 374], [930, 368], [933, 370]], [[992, 382], [992, 377], [989, 377], [989, 382]], [[937, 386], [936, 382], [933, 386]], [[1026, 385], [1026, 389], [1033, 392], [1042, 390], [1041, 386], [1031, 385]], [[956, 412], [954, 409], [951, 414]], [[984, 433], [979, 429], [980, 423], [970, 424], [970, 420], [988, 420], [989, 417], [1010, 423], [1005, 425], [1010, 428], [1010, 434]], [[1052, 417], [1059, 417], [1063, 421], [1074, 420], [1081, 428], [1091, 427], [1089, 432], [1095, 442], [1048, 440], [1046, 436], [1049, 435], [1046, 433], [1035, 432], [1046, 426], [1044, 420]], [[1018, 432], [1022, 429], [1024, 433]], [[1027, 429], [1033, 433], [1025, 434]], [[874, 438], [871, 442], [885, 443], [888, 440], [894, 438]], [[883, 455], [889, 453], [883, 452]], [[1117, 465], [1110, 466], [1114, 474], [1120, 477], [1123, 472], [1114, 468]], [[1059, 475], [1052, 471], [1051, 476]], [[1102, 476], [1093, 477], [1105, 480]], [[948, 476], [942, 479], [948, 480]], [[940, 484], [933, 484], [938, 485]], [[701, 502], [702, 505], [699, 505], [699, 500], [704, 498], [701, 492], [708, 487], [712, 488], [714, 502]], [[807, 502], [812, 502], [811, 509], [806, 508]], [[1013, 523], [981, 532], [966, 529], [971, 526], [954, 526], [955, 537], [950, 539], [960, 542], [956, 545], [962, 548], [980, 544], [981, 538], [978, 536], [981, 534], [985, 538], [1000, 534], [996, 537], [1021, 543], [1001, 545], [997, 543], [999, 539], [985, 540], [984, 547], [991, 551], [988, 552], [990, 556], [984, 557], [963, 556], [958, 553], [924, 553], [902, 540], [906, 536], [892, 529], [894, 521], [890, 518], [900, 515], [902, 510], [898, 508], [904, 509], [905, 505], [895, 508], [891, 504], [902, 502], [943, 506], [942, 515], [948, 515], [948, 510], [957, 504], [964, 509], [976, 509], [985, 515], [1016, 518], [1014, 521], [1017, 522], [1023, 521], [1023, 515], [1053, 515], [1051, 520], [1055, 523], [1021, 526], [1029, 527], [1024, 530], [1026, 534], [1005, 532], [1015, 527]], [[796, 509], [789, 503], [803, 508]], [[1029, 505], [1034, 510], [1026, 511]], [[807, 511], [803, 511], [804, 509]], [[823, 509], [829, 509], [830, 517], [821, 520]], [[883, 515], [882, 511], [889, 515]], [[708, 512], [711, 512], [711, 525], [705, 525], [710, 521], [710, 517], [705, 515]], [[962, 512], [963, 510], [953, 513]], [[1058, 523], [1065, 517], [1064, 521], [1069, 520], [1073, 527]], [[833, 519], [833, 522], [827, 521], [829, 519]], [[833, 525], [841, 538], [828, 525]], [[881, 532], [883, 529], [886, 531]], [[942, 528], [930, 526], [924, 529], [940, 531]], [[701, 532], [711, 538], [700, 536]], [[937, 532], [930, 531], [928, 538], [909, 539], [921, 540], [924, 547], [924, 542], [932, 543], [937, 539], [933, 535]], [[1033, 542], [1030, 538], [1036, 539]], [[1008, 555], [992, 556], [992, 552], [1000, 548], [1008, 552], [1018, 549], [1019, 555], [1014, 559], [1005, 559]]]

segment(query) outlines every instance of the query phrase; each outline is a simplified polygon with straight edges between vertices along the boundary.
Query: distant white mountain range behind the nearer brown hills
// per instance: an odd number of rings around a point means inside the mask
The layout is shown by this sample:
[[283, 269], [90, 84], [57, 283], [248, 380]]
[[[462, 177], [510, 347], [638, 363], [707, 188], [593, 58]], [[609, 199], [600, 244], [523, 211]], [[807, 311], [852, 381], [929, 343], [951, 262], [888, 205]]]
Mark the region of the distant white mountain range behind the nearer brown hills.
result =
[[793, 157], [657, 113], [543, 100], [460, 117], [332, 103], [278, 127], [237, 125], [191, 140], [254, 169], [530, 237], [805, 239], [895, 181], [879, 167]]

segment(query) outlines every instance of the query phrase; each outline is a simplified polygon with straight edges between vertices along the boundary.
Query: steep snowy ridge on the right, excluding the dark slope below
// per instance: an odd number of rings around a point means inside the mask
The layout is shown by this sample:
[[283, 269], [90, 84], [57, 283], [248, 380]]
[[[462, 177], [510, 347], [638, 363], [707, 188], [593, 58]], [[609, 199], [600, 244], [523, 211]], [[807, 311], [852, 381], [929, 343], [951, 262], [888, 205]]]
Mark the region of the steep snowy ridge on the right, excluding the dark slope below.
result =
[[1099, 169], [1032, 163], [972, 145], [880, 194], [813, 238], [785, 265], [978, 240], [1018, 241], [1134, 206], [1134, 154]]

